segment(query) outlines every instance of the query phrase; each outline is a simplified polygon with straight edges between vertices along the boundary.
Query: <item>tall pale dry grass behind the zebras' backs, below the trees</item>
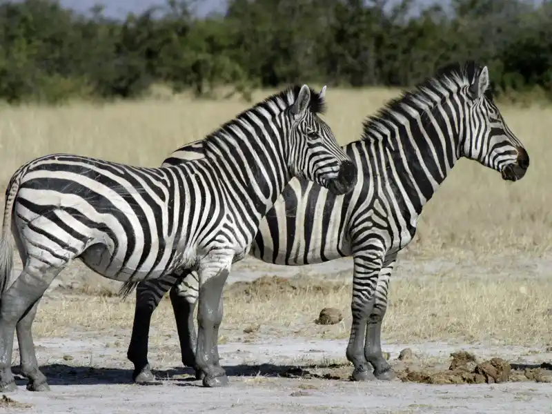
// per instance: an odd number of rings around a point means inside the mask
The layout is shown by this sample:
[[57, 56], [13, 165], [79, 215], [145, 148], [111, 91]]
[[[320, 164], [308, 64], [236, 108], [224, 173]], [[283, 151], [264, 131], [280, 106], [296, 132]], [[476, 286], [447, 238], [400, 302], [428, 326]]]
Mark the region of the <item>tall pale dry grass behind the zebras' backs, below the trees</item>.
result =
[[[257, 101], [273, 90], [259, 90]], [[359, 137], [361, 122], [397, 90], [329, 88], [326, 119], [342, 144]], [[193, 100], [164, 95], [146, 101], [59, 108], [5, 107], [0, 117], [0, 184], [23, 162], [70, 152], [142, 166], [158, 166], [172, 150], [201, 139], [250, 104], [237, 99]], [[526, 177], [502, 181], [497, 172], [460, 160], [420, 219], [407, 249], [417, 255], [546, 253], [552, 245], [552, 108], [500, 106], [531, 157]]]

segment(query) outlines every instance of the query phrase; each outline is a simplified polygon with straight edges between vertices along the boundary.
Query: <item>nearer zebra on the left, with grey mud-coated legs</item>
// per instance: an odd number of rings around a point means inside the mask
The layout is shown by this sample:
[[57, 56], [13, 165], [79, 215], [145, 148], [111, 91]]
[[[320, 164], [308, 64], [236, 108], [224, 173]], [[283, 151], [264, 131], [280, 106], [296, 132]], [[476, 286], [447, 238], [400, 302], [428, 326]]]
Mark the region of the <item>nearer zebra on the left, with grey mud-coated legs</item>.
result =
[[[10, 369], [17, 330], [21, 372], [30, 391], [48, 390], [31, 326], [39, 300], [72, 259], [124, 282], [180, 266], [193, 268], [199, 293], [198, 366], [205, 386], [228, 384], [219, 364], [221, 290], [233, 262], [246, 256], [260, 219], [293, 176], [335, 194], [352, 190], [357, 170], [319, 117], [322, 92], [293, 86], [257, 103], [208, 135], [205, 157], [145, 168], [79, 155], [28, 161], [12, 175], [0, 239], [0, 388], [14, 391]], [[10, 230], [23, 271], [8, 288]], [[135, 376], [139, 373], [134, 373]]]

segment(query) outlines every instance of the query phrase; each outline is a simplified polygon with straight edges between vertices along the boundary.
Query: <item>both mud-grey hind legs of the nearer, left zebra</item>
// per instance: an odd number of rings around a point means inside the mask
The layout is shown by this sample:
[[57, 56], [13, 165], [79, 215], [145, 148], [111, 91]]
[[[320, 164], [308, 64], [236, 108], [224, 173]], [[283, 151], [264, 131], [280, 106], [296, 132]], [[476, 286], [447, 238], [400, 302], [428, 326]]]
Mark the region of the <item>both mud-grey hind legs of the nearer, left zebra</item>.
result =
[[28, 389], [49, 389], [46, 377], [38, 367], [30, 330], [40, 298], [66, 263], [67, 261], [64, 261], [63, 265], [53, 267], [39, 259], [30, 258], [21, 275], [3, 293], [0, 304], [0, 391], [17, 389], [11, 369], [16, 325], [23, 375], [28, 375], [30, 379]]

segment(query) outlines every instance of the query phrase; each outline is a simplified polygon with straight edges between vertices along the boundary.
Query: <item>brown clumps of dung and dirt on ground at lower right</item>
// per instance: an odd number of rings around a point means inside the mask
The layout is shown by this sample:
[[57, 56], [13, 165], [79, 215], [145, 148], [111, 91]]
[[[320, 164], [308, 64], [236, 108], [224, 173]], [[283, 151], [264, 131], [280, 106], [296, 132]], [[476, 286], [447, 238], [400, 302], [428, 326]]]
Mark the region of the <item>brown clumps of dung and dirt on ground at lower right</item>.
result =
[[406, 366], [397, 373], [402, 382], [421, 384], [495, 384], [502, 382], [552, 382], [552, 371], [548, 364], [535, 368], [516, 367], [500, 357], [477, 362], [475, 355], [466, 351], [451, 354], [449, 369], [417, 369]]

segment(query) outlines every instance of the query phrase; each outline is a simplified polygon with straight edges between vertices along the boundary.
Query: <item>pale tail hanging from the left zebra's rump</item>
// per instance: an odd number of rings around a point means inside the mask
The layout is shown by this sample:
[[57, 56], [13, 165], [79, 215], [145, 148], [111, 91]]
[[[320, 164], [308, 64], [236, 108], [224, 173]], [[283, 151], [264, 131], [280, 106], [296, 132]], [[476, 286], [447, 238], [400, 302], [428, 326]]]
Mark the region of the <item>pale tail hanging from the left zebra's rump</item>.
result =
[[19, 190], [19, 175], [12, 178], [6, 191], [6, 204], [4, 206], [4, 219], [2, 233], [0, 235], [0, 295], [8, 289], [13, 268], [13, 244], [12, 244], [12, 210], [17, 191]]

